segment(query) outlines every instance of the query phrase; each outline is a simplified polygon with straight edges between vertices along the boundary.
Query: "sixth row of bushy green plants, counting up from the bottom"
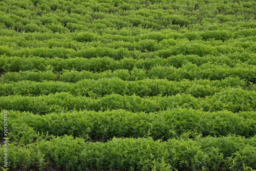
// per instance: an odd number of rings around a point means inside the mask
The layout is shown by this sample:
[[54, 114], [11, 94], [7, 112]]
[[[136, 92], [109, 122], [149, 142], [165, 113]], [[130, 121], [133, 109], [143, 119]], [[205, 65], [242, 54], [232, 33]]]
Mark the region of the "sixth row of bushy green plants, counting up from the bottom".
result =
[[[244, 61], [244, 63], [243, 63]], [[5, 55], [0, 56], [0, 70], [3, 72], [19, 72], [19, 71], [47, 71], [52, 69], [53, 72], [61, 72], [62, 70], [75, 70], [75, 71], [94, 71], [102, 72], [106, 70], [128, 69], [129, 71], [134, 68], [150, 70], [155, 66], [175, 68], [182, 67], [183, 65], [191, 62], [197, 66], [201, 66], [207, 62], [212, 62], [214, 65], [227, 64], [230, 67], [236, 65], [256, 65], [255, 53], [240, 53], [234, 52], [230, 54], [212, 56], [206, 55], [200, 57], [198, 55], [176, 55], [167, 58], [155, 56], [154, 58], [145, 59], [132, 59], [123, 58], [114, 60], [109, 57], [101, 58], [42, 58], [42, 57], [8, 57]]]

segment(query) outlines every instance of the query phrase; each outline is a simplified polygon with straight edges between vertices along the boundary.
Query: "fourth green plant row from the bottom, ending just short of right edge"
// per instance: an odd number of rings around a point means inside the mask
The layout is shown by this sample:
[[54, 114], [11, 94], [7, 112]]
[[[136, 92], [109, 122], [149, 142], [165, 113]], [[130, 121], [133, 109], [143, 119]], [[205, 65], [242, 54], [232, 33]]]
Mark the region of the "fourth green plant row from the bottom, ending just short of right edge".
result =
[[57, 92], [68, 92], [72, 95], [102, 97], [106, 94], [163, 96], [178, 93], [191, 94], [193, 97], [205, 97], [225, 90], [227, 87], [245, 88], [247, 83], [239, 78], [226, 78], [224, 80], [182, 80], [179, 82], [166, 79], [144, 79], [138, 81], [123, 81], [120, 78], [101, 78], [98, 80], [81, 80], [76, 83], [56, 81], [19, 81], [0, 84], [0, 96], [8, 95], [48, 95]]

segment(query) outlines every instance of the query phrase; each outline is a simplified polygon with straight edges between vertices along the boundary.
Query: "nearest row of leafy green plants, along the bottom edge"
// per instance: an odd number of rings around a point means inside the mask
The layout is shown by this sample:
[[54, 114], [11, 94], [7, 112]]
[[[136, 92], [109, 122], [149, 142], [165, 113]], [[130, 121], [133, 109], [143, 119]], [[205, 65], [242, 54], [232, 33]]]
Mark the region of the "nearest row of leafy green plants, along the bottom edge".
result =
[[[189, 139], [193, 136], [193, 139]], [[40, 170], [48, 163], [69, 170], [246, 170], [256, 167], [256, 137], [201, 137], [184, 133], [180, 140], [154, 141], [149, 138], [112, 138], [106, 143], [85, 142], [83, 138], [64, 135], [50, 137], [50, 141], [8, 145], [8, 165], [12, 168]], [[4, 147], [1, 147], [3, 161]]]

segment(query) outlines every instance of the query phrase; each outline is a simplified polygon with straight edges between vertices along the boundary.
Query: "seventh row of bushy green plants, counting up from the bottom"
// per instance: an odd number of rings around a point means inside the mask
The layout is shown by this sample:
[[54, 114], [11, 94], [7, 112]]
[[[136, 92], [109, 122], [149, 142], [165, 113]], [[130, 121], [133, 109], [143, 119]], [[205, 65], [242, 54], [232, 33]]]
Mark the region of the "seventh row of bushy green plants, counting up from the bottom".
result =
[[[97, 57], [110, 57], [115, 60], [120, 60], [123, 58], [154, 58], [155, 56], [168, 58], [173, 55], [213, 55], [218, 56], [221, 54], [230, 54], [234, 52], [247, 52], [255, 53], [255, 36], [246, 38], [247, 40], [232, 40], [233, 42], [219, 41], [221, 43], [216, 43], [212, 41], [203, 40], [191, 40], [188, 39], [164, 39], [161, 41], [162, 45], [156, 44], [156, 49], [154, 49], [154, 40], [142, 40], [136, 44], [138, 49], [129, 47], [129, 43], [126, 42], [114, 42], [111, 44], [116, 44], [111, 47], [101, 46], [101, 42], [92, 42], [88, 47], [82, 47], [81, 49], [72, 49], [65, 47], [18, 47], [1, 45], [0, 55], [6, 56], [38, 56], [44, 58], [97, 58]], [[58, 43], [59, 44], [59, 43]], [[160, 44], [160, 43], [159, 43]], [[174, 44], [174, 45], [172, 45]], [[123, 46], [123, 47], [122, 47]], [[152, 49], [153, 48], [153, 49]], [[246, 59], [245, 61], [247, 61]]]

